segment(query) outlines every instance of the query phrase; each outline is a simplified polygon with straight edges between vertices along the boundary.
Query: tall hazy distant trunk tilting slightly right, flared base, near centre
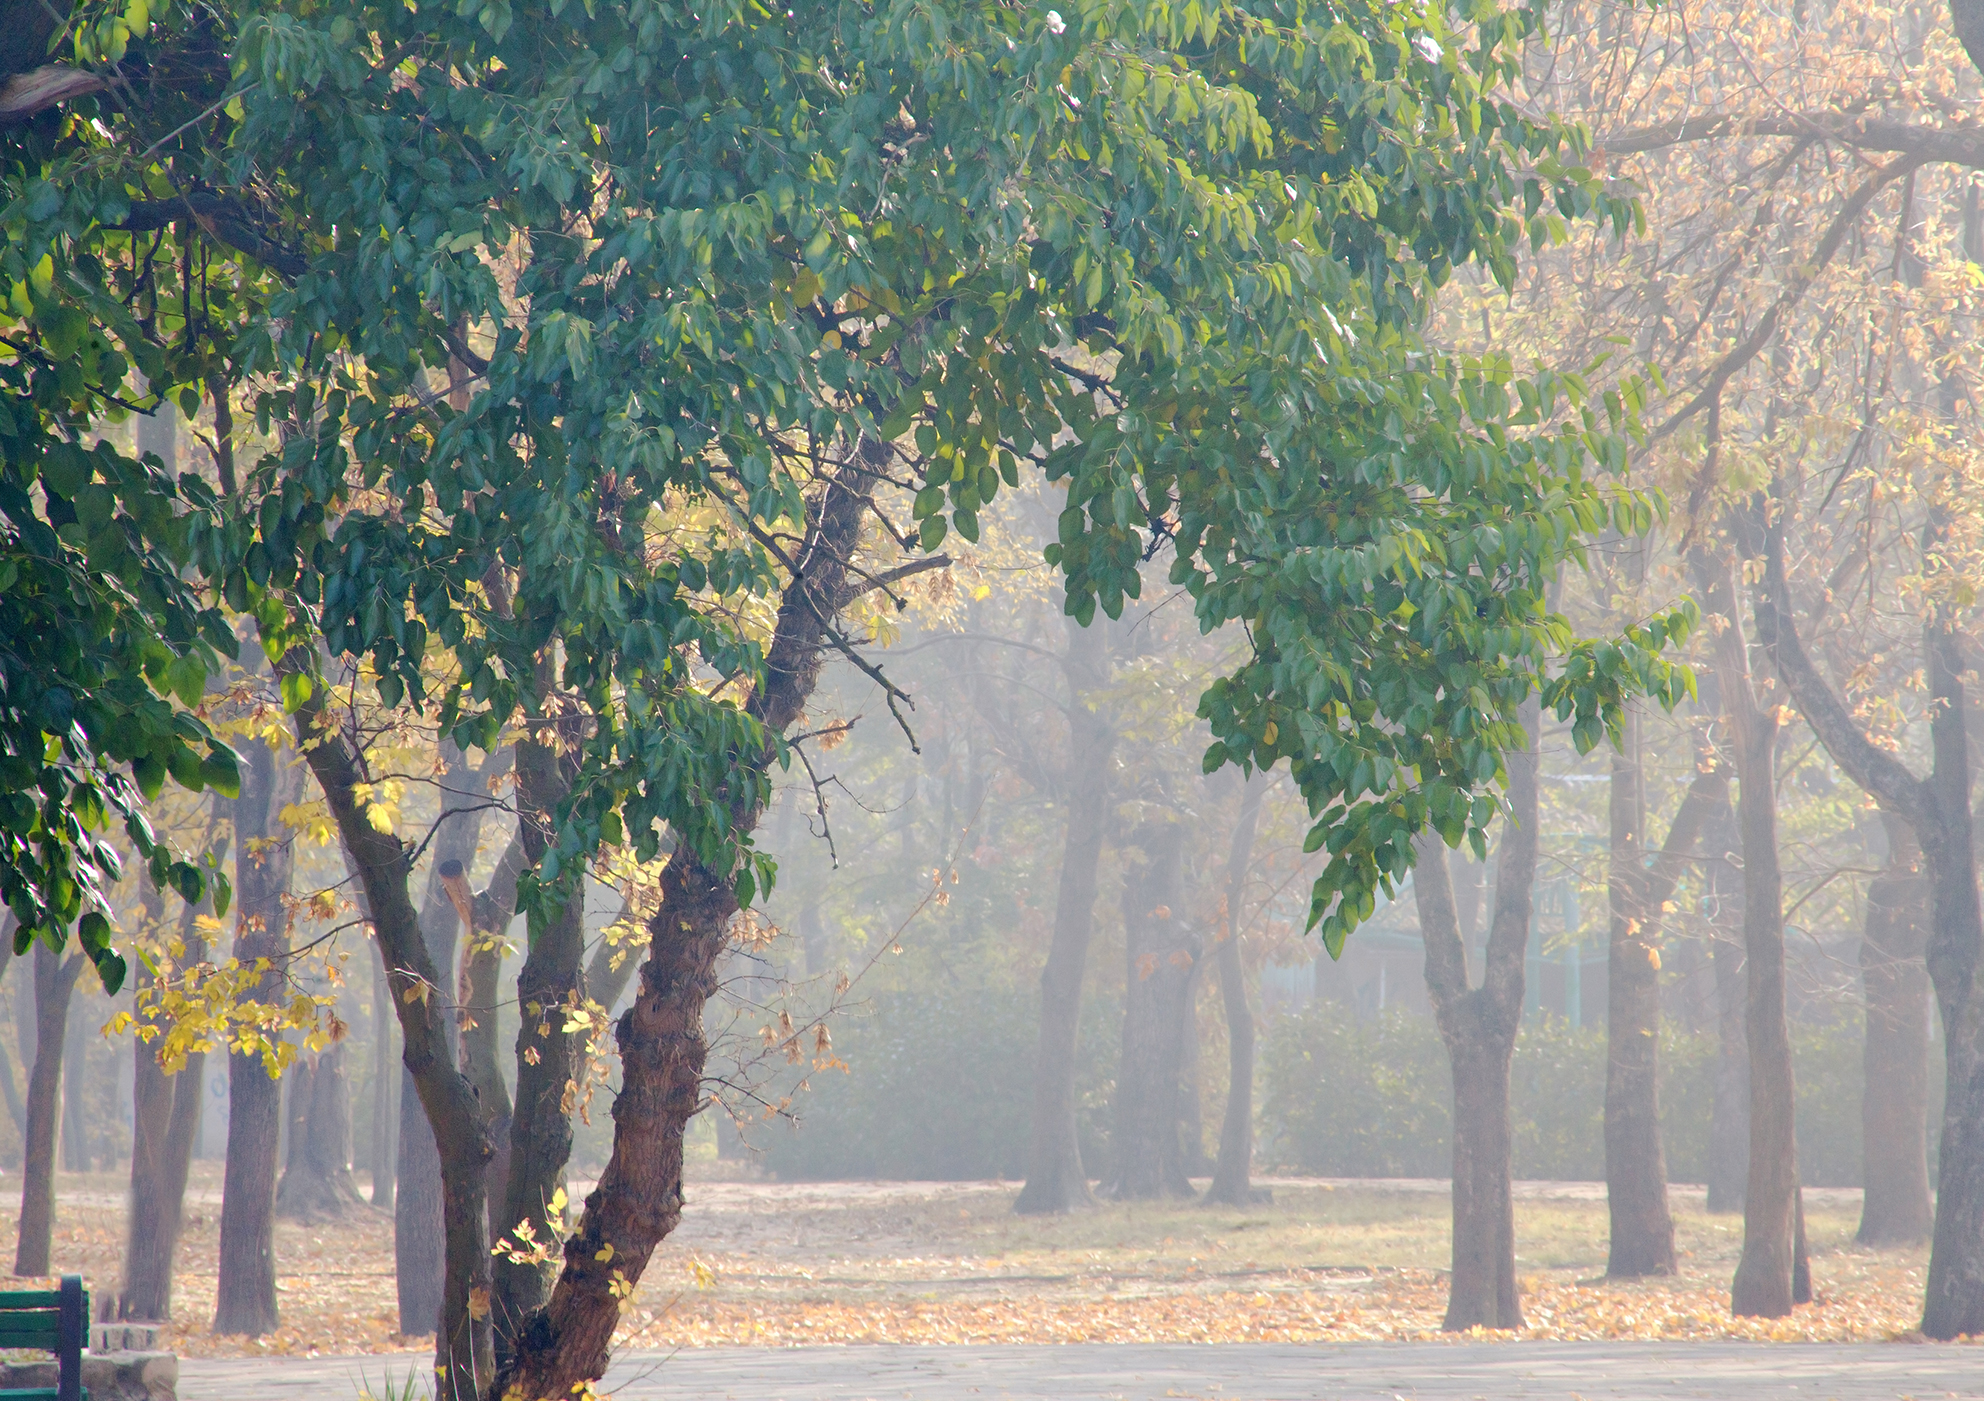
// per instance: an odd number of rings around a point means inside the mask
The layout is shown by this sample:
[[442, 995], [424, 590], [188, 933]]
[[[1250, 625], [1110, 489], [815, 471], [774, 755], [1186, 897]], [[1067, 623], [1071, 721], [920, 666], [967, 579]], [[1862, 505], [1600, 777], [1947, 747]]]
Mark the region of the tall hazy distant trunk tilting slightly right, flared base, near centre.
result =
[[1054, 903], [1054, 943], [1040, 970], [1040, 1052], [1034, 1058], [1034, 1139], [1026, 1187], [1012, 1209], [1022, 1214], [1091, 1207], [1075, 1123], [1075, 1064], [1081, 1038], [1081, 980], [1095, 931], [1097, 867], [1109, 824], [1109, 778], [1115, 768], [1113, 716], [1095, 700], [1109, 681], [1109, 651], [1099, 629], [1069, 623], [1067, 786], [1061, 808], [1061, 877]]

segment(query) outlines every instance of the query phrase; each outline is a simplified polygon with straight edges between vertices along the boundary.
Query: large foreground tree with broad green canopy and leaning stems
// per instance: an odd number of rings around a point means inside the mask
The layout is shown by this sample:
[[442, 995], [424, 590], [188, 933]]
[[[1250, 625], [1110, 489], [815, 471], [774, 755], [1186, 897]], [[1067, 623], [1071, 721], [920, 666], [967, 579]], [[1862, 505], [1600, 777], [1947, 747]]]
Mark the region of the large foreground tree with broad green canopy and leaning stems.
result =
[[[1200, 623], [1256, 639], [1206, 700], [1210, 766], [1290, 758], [1329, 814], [1311, 839], [1331, 949], [1415, 833], [1478, 837], [1524, 700], [1589, 744], [1623, 695], [1678, 685], [1657, 651], [1684, 617], [1585, 647], [1544, 603], [1577, 536], [1651, 520], [1581, 470], [1619, 464], [1631, 403], [1557, 421], [1581, 381], [1512, 391], [1502, 365], [1417, 347], [1454, 260], [1508, 276], [1520, 232], [1629, 212], [1557, 161], [1567, 133], [1484, 97], [1528, 22], [1480, 20], [1468, 48], [1444, 14], [1264, 6], [1184, 52], [1159, 12], [282, 10], [218, 40], [238, 77], [202, 95], [222, 99], [204, 125], [103, 111], [75, 137], [115, 173], [63, 194], [75, 226], [165, 218], [119, 200], [169, 137], [161, 179], [185, 194], [161, 210], [216, 191], [202, 230], [232, 240], [224, 262], [284, 284], [230, 361], [274, 385], [256, 411], [278, 445], [224, 526], [188, 534], [284, 667], [389, 955], [442, 1157], [448, 1389], [486, 1375], [490, 1145], [421, 994], [448, 970], [421, 947], [409, 845], [369, 816], [333, 689], [349, 712], [363, 681], [488, 752], [552, 659], [585, 726], [520, 881], [540, 923], [601, 845], [653, 857], [663, 826], [679, 843], [621, 1022], [615, 1159], [510, 1373], [563, 1395], [597, 1375], [617, 1290], [679, 1209], [712, 960], [770, 885], [748, 835], [817, 651], [853, 651], [833, 572], [875, 478], [901, 472], [925, 550], [972, 538], [1022, 460], [1067, 478], [1054, 560], [1083, 623], [1175, 538]], [[655, 125], [702, 103], [784, 135]], [[1526, 214], [1516, 169], [1536, 171]], [[1506, 435], [1532, 403], [1551, 427]], [[883, 581], [913, 568], [887, 524]], [[770, 627], [724, 607], [750, 597], [778, 599]]]

